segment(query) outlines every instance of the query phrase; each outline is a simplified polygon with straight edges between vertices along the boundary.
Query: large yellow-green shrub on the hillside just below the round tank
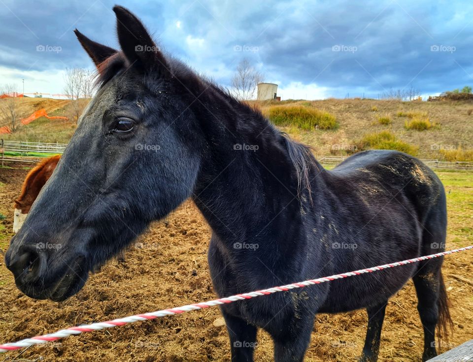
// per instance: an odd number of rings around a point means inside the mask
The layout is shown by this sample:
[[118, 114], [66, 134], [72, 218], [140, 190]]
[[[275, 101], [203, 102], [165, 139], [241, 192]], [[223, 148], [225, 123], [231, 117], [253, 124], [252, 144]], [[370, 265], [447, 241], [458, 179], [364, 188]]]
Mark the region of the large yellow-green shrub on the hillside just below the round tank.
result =
[[278, 126], [297, 126], [305, 130], [336, 129], [333, 114], [304, 106], [274, 106], [269, 110], [270, 120]]

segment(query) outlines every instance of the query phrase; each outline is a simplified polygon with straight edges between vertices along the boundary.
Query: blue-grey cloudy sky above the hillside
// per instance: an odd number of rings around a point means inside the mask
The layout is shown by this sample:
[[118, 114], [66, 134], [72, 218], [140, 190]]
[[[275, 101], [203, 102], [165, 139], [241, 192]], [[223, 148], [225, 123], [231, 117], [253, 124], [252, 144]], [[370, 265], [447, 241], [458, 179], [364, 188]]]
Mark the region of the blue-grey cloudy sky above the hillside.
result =
[[[64, 93], [91, 68], [77, 28], [117, 47], [114, 1], [0, 0], [0, 85]], [[123, 0], [167, 51], [229, 86], [242, 58], [283, 99], [423, 95], [473, 85], [473, 1]], [[92, 68], [91, 68], [92, 69]]]

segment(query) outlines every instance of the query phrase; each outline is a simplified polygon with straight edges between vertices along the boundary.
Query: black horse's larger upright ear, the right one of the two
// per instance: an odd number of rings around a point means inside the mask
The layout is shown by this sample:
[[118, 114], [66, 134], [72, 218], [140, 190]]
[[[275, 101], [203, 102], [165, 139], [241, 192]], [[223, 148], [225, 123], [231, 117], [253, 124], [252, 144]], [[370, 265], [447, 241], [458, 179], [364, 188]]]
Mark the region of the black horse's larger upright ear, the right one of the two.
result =
[[168, 63], [141, 21], [128, 9], [114, 6], [117, 16], [118, 42], [130, 63], [145, 70], [169, 73]]

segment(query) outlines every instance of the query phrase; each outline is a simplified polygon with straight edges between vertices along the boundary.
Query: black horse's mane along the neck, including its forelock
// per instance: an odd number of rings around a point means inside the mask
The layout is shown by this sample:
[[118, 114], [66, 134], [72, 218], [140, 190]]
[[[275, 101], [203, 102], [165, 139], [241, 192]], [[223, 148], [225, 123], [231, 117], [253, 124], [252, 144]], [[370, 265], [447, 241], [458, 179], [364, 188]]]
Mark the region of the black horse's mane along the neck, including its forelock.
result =
[[[220, 97], [222, 97], [229, 106], [235, 107], [240, 111], [243, 110], [245, 113], [251, 113], [256, 119], [270, 123], [268, 118], [263, 115], [257, 104], [252, 104], [247, 101], [236, 99], [236, 97], [228, 88], [223, 88], [213, 79], [199, 75], [189, 66], [174, 57], [167, 56], [166, 60], [168, 61], [171, 72], [176, 76], [200, 81], [205, 88], [204, 92], [207, 92], [208, 90], [214, 91]], [[130, 64], [122, 51], [118, 51], [117, 53], [111, 55], [97, 67], [96, 86], [101, 88], [127, 67], [130, 67]], [[201, 94], [201, 92], [199, 92], [199, 94]], [[289, 135], [285, 132], [280, 132], [277, 129], [275, 129], [275, 132], [279, 133], [279, 136], [282, 138], [285, 148], [288, 152], [289, 159], [295, 168], [298, 181], [298, 196], [300, 196], [301, 187], [304, 187], [307, 189], [309, 200], [312, 203], [311, 185], [309, 180], [310, 166], [313, 165], [317, 170], [320, 169], [318, 162], [311, 153], [311, 149], [313, 148], [291, 140]]]

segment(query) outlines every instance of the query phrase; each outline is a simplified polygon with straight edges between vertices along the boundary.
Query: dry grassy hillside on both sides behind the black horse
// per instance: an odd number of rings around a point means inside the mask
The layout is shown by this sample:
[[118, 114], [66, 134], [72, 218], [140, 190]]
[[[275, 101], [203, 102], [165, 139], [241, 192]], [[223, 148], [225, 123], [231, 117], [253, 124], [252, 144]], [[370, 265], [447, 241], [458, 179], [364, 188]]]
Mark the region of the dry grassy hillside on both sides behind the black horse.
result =
[[[35, 104], [36, 102], [43, 102]], [[38, 101], [39, 100], [39, 101]], [[34, 106], [49, 107], [50, 115], [68, 115], [65, 101], [53, 99], [30, 99], [28, 104], [33, 112]], [[87, 100], [83, 100], [87, 102]], [[252, 102], [254, 103], [254, 102]], [[369, 133], [389, 130], [397, 139], [416, 149], [420, 158], [444, 159], [442, 149], [463, 150], [473, 149], [473, 104], [468, 101], [459, 102], [401, 102], [390, 100], [368, 99], [328, 99], [323, 101], [284, 101], [263, 102], [257, 106], [266, 115], [276, 105], [295, 105], [319, 109], [334, 115], [338, 122], [335, 130], [304, 130], [296, 126], [281, 126], [295, 140], [314, 147], [316, 156], [343, 155], [356, 151], [360, 140]], [[25, 106], [26, 107], [26, 106]], [[425, 114], [433, 127], [425, 131], [405, 129], [405, 116], [399, 112], [415, 112]], [[471, 114], [468, 114], [471, 113]], [[387, 116], [390, 124], [383, 125], [379, 117]], [[69, 118], [70, 119], [70, 118]], [[48, 120], [39, 118], [29, 125], [23, 126], [12, 135], [3, 135], [4, 139], [60, 142], [67, 143], [75, 129], [75, 122]], [[471, 152], [473, 153], [473, 152]], [[473, 158], [471, 159], [473, 160]]]

